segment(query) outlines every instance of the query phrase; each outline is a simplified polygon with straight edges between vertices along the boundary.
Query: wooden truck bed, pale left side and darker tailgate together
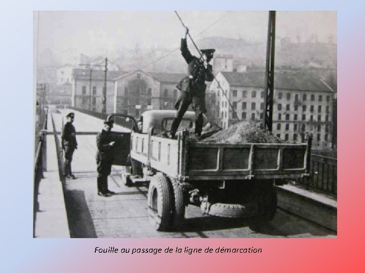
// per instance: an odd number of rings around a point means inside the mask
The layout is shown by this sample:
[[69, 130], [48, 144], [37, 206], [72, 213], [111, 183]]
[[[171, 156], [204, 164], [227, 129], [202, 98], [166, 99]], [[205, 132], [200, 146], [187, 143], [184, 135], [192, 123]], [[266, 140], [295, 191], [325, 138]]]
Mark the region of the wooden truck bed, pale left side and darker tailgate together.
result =
[[131, 157], [169, 176], [200, 180], [298, 178], [307, 173], [308, 144], [227, 144], [131, 134]]

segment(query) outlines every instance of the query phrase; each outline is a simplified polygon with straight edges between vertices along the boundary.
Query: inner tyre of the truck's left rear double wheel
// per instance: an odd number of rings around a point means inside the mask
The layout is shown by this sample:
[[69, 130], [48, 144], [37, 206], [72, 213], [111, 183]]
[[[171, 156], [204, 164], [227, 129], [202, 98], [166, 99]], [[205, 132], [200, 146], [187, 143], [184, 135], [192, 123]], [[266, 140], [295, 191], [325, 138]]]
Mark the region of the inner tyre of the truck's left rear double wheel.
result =
[[175, 178], [170, 178], [173, 190], [172, 227], [178, 230], [185, 219], [184, 190], [178, 185]]

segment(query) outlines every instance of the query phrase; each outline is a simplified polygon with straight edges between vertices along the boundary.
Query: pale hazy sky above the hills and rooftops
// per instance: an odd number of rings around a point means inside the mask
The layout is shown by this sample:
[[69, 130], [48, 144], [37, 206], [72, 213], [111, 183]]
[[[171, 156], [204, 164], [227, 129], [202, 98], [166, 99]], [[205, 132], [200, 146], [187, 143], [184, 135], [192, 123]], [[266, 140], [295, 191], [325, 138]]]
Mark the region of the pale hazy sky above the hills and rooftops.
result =
[[[224, 36], [266, 42], [268, 12], [178, 13], [195, 40], [204, 36]], [[73, 48], [85, 54], [100, 49], [134, 48], [136, 43], [143, 48], [178, 47], [184, 34], [173, 11], [34, 12], [35, 37], [38, 29], [39, 51], [50, 49], [57, 53]], [[202, 30], [205, 31], [200, 33]], [[297, 35], [300, 35], [305, 41], [312, 34], [319, 41], [326, 41], [330, 35], [336, 41], [336, 12], [276, 13], [277, 37], [289, 36], [292, 41], [297, 41]]]

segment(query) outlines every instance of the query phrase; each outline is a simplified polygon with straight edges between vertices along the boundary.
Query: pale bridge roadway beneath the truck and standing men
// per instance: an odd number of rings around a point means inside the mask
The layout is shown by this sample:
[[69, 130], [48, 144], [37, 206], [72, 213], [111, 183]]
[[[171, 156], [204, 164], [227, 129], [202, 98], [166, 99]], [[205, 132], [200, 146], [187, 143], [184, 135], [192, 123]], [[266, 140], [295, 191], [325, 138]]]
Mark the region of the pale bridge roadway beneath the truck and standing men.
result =
[[[69, 110], [51, 111], [56, 131]], [[100, 131], [102, 120], [75, 111], [76, 131]], [[51, 128], [49, 128], [51, 129]], [[113, 130], [126, 130], [115, 126]], [[58, 136], [60, 140], [60, 136]], [[199, 208], [188, 206], [186, 223], [180, 232], [157, 232], [147, 215], [146, 187], [126, 187], [120, 167], [113, 166], [108, 178], [111, 197], [96, 190], [96, 141], [93, 135], [77, 135], [78, 149], [72, 160], [77, 179], [65, 180], [65, 205], [71, 238], [281, 238], [335, 237], [336, 233], [296, 215], [278, 210], [275, 218], [261, 226], [242, 219], [202, 215]], [[56, 151], [54, 151], [56, 152]]]

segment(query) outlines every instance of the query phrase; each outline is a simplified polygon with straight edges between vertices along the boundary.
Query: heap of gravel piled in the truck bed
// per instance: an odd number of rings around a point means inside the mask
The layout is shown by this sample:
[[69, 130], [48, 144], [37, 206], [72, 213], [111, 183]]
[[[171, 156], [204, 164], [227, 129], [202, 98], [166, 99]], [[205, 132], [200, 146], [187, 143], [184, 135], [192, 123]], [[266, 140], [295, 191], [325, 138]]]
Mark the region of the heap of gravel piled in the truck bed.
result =
[[259, 123], [241, 121], [214, 133], [201, 142], [208, 143], [285, 143], [272, 132], [261, 128]]

